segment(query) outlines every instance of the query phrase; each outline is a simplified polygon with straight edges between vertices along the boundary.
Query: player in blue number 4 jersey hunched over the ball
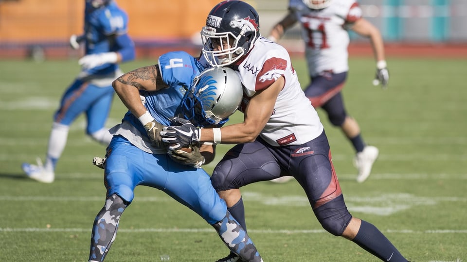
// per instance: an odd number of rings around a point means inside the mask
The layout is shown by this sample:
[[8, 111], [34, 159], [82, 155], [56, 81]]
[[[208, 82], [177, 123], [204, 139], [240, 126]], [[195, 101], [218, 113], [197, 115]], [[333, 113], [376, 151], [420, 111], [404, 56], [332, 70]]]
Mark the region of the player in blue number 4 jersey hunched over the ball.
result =
[[[112, 83], [129, 111], [121, 124], [110, 129], [113, 138], [103, 165], [107, 198], [94, 220], [89, 261], [105, 259], [120, 217], [135, 197], [135, 187], [145, 185], [162, 190], [200, 215], [242, 261], [262, 262], [250, 237], [216, 193], [210, 176], [198, 168], [212, 161], [215, 144], [170, 150], [160, 135], [167, 125], [222, 126], [241, 103], [240, 78], [230, 68], [204, 70], [183, 51], [166, 53], [158, 62]], [[189, 120], [171, 121], [174, 116]]]

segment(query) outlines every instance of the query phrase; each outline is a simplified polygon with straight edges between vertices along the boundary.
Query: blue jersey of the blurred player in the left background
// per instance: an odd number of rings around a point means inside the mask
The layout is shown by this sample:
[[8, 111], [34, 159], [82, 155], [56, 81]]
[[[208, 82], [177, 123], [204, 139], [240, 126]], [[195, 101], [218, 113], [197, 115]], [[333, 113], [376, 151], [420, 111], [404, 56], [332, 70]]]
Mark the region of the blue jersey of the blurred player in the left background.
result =
[[[121, 49], [126, 48], [130, 51], [133, 50], [134, 44], [127, 36], [127, 31], [128, 16], [114, 1], [97, 9], [86, 4], [84, 17], [86, 54], [122, 52]], [[111, 35], [116, 37], [110, 38]], [[119, 36], [124, 36], [124, 38], [118, 39]], [[134, 51], [132, 52], [134, 53]], [[106, 75], [114, 72], [117, 68], [118, 64], [105, 64], [90, 68], [87, 73]]]

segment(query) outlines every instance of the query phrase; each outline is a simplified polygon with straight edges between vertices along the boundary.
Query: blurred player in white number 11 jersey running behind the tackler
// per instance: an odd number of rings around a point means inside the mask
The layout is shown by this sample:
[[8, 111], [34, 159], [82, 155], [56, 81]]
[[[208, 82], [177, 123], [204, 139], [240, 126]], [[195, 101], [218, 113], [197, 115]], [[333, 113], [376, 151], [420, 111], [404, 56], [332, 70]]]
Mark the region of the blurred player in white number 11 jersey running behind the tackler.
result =
[[[305, 56], [311, 83], [305, 95], [315, 108], [326, 112], [332, 125], [340, 127], [356, 151], [354, 165], [357, 181], [363, 182], [370, 175], [378, 157], [378, 148], [366, 145], [359, 124], [347, 115], [341, 90], [347, 78], [349, 34], [352, 30], [368, 37], [377, 61], [373, 84], [386, 87], [389, 73], [386, 68], [384, 46], [378, 29], [362, 18], [355, 0], [290, 0], [288, 14], [271, 30], [269, 39], [277, 41], [296, 22], [300, 22], [305, 41]], [[286, 182], [282, 177], [274, 182]]]

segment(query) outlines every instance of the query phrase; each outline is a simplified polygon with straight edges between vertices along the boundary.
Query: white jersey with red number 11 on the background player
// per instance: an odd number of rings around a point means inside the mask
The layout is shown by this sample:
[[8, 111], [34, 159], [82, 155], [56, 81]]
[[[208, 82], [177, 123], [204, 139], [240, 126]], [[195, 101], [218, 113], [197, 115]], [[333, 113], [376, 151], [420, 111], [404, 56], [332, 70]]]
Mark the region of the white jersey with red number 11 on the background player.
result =
[[309, 75], [348, 71], [350, 39], [346, 28], [361, 18], [359, 4], [355, 0], [332, 0], [328, 7], [313, 10], [302, 0], [290, 0], [288, 8], [301, 24]]

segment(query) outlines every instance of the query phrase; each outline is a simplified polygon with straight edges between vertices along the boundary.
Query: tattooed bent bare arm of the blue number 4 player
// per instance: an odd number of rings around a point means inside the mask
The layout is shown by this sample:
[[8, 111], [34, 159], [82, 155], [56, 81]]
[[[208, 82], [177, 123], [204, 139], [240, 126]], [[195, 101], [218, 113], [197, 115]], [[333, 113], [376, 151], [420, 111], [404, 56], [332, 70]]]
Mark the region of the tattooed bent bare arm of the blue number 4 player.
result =
[[139, 90], [157, 91], [167, 87], [162, 81], [159, 66], [145, 66], [128, 72], [112, 82], [118, 97], [133, 115], [140, 117], [146, 112]]

